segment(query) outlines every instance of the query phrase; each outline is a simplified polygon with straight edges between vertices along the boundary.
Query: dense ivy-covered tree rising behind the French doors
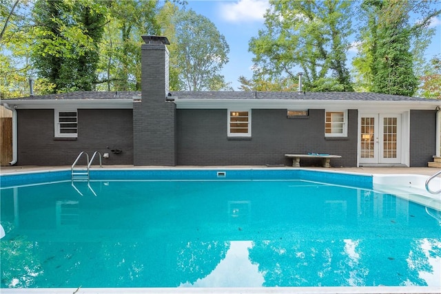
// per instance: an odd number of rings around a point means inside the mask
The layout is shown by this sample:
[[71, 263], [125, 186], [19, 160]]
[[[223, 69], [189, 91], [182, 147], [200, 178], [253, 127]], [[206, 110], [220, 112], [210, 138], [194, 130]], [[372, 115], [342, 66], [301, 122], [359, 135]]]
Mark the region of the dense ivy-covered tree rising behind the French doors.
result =
[[[429, 1], [365, 0], [361, 11], [365, 25], [353, 61], [361, 90], [412, 96], [418, 88], [414, 65], [431, 34], [427, 25], [441, 10], [431, 9]], [[411, 25], [411, 12], [422, 20]]]

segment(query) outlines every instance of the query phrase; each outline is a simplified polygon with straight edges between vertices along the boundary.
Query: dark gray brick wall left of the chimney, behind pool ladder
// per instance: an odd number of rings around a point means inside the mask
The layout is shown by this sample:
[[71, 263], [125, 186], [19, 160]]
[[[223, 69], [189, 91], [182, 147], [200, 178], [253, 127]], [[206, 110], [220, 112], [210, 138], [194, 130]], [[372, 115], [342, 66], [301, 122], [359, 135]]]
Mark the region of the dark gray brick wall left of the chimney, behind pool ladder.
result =
[[109, 153], [104, 165], [133, 162], [132, 109], [78, 109], [76, 140], [54, 138], [54, 109], [18, 109], [17, 114], [17, 165], [72, 165], [81, 151]]

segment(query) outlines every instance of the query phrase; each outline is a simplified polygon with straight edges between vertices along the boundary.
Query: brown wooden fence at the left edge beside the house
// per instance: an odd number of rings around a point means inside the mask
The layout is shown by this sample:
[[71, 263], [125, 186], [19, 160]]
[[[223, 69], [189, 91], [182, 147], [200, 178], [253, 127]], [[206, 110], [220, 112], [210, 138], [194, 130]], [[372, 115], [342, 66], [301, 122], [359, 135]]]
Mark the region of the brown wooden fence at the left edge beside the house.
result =
[[12, 160], [12, 112], [0, 106], [0, 165]]

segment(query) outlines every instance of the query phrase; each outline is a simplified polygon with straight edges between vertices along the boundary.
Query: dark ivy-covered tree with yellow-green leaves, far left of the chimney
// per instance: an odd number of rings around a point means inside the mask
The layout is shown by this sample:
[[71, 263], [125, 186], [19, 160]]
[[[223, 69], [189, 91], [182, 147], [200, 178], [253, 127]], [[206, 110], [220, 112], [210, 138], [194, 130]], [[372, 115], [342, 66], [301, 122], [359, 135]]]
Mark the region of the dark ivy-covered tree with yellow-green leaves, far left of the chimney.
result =
[[90, 91], [96, 81], [105, 6], [94, 1], [39, 0], [32, 59], [52, 92]]

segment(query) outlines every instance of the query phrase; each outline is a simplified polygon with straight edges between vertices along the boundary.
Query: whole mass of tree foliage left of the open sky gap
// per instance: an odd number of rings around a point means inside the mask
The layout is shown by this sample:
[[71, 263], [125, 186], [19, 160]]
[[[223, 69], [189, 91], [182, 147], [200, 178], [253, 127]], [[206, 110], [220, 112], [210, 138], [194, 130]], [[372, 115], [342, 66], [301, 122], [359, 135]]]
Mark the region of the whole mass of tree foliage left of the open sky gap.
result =
[[[231, 90], [219, 74], [229, 50], [225, 38], [211, 21], [176, 3], [185, 6], [185, 1], [165, 1], [160, 10], [157, 0], [0, 0], [1, 98], [29, 93], [30, 77], [36, 94], [141, 90], [141, 35], [161, 31], [172, 39], [172, 90], [187, 88], [185, 75], [191, 74], [199, 78], [191, 84], [194, 90]], [[198, 43], [185, 48], [183, 38]], [[182, 67], [179, 62], [198, 57], [179, 54], [203, 55], [197, 65]]]

